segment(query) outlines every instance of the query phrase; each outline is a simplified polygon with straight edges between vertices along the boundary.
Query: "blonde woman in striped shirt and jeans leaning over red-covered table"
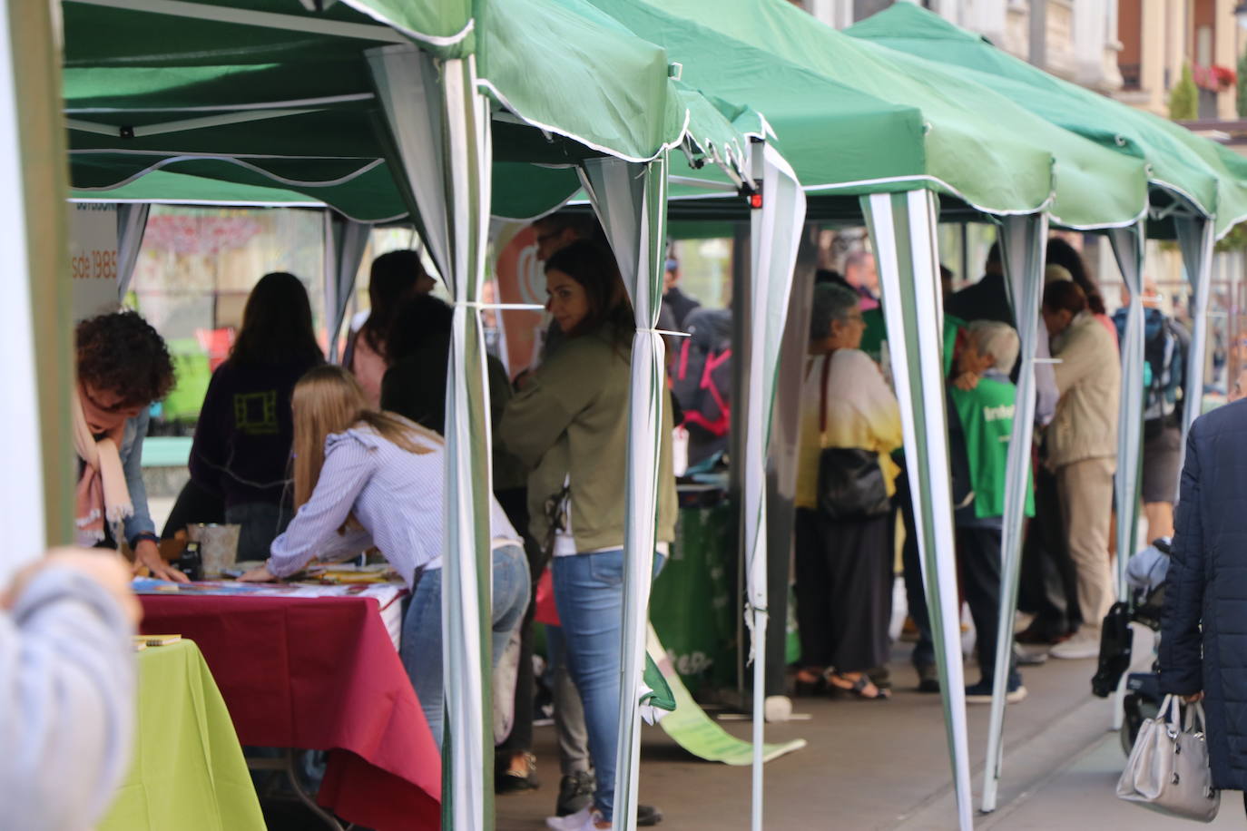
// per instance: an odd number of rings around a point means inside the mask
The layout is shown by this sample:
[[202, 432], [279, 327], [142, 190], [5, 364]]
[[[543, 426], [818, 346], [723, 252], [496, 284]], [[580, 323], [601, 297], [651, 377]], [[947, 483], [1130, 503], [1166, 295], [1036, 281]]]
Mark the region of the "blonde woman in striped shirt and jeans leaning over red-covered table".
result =
[[[294, 387], [294, 502], [291, 527], [268, 562], [241, 579], [264, 582], [375, 544], [412, 589], [400, 655], [441, 745], [441, 553], [445, 445], [441, 437], [368, 405], [340, 366], [318, 366]], [[519, 534], [490, 500], [494, 660], [529, 604]]]

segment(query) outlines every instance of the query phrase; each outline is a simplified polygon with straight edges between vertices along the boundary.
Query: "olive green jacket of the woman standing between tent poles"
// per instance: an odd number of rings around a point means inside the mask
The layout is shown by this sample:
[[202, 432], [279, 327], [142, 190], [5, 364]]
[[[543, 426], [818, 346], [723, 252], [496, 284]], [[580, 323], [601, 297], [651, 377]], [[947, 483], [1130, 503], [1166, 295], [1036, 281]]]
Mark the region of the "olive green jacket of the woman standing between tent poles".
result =
[[[571, 338], [503, 412], [498, 437], [531, 471], [529, 531], [539, 543], [549, 534], [546, 501], [567, 482], [576, 551], [624, 546], [630, 353], [631, 346], [611, 341], [607, 328]], [[672, 542], [677, 503], [670, 399], [662, 405], [657, 541]]]

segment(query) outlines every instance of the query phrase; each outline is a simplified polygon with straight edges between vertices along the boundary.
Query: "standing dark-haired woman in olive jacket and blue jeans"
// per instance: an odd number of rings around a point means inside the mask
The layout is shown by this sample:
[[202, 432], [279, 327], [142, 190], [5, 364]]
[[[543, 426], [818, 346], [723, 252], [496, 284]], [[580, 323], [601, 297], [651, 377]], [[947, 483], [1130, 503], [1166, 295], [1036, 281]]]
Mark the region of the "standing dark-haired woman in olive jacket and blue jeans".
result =
[[[635, 325], [614, 255], [577, 242], [546, 262], [549, 309], [566, 340], [506, 406], [499, 439], [531, 470], [530, 531], [554, 554], [569, 667], [585, 704], [594, 805], [547, 821], [610, 827], [620, 713], [628, 365]], [[675, 539], [671, 409], [658, 453], [656, 571]]]

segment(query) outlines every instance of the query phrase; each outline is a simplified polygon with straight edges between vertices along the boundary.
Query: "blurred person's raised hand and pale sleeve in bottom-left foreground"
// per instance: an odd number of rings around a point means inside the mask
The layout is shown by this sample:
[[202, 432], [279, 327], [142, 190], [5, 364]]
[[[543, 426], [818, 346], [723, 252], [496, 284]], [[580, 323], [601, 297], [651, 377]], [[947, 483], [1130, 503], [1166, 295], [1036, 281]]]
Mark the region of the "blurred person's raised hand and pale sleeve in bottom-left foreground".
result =
[[0, 806], [22, 831], [86, 831], [112, 802], [135, 729], [130, 568], [62, 548], [0, 591]]

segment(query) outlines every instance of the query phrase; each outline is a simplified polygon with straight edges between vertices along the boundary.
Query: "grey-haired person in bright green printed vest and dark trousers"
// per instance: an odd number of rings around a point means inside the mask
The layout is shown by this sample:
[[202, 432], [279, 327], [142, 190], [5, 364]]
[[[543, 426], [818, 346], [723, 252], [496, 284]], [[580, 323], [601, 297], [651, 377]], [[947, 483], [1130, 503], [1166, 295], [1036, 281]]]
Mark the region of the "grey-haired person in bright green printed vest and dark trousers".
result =
[[[953, 453], [956, 554], [961, 586], [978, 634], [978, 684], [965, 689], [969, 704], [991, 700], [996, 637], [1000, 625], [1000, 538], [1005, 508], [1005, 471], [1013, 436], [1016, 387], [1009, 370], [1018, 360], [1013, 326], [975, 320], [958, 353], [956, 380], [949, 385], [949, 442]], [[1034, 516], [1026, 493], [1026, 516]], [[1005, 700], [1026, 696], [1015, 659], [1010, 658]]]

